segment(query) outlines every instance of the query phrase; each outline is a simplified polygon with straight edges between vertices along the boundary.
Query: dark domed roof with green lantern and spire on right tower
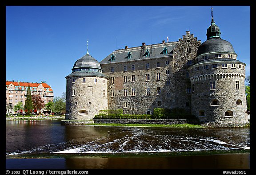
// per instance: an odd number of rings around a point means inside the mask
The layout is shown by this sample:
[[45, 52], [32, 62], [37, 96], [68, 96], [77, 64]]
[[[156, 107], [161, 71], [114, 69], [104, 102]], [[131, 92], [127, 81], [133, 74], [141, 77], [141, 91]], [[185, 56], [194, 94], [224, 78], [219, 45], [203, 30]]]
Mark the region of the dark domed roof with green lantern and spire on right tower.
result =
[[211, 25], [207, 28], [207, 40], [202, 43], [197, 50], [196, 56], [201, 54], [212, 54], [212, 53], [232, 53], [236, 54], [231, 43], [220, 38], [220, 28], [215, 24], [213, 20]]

